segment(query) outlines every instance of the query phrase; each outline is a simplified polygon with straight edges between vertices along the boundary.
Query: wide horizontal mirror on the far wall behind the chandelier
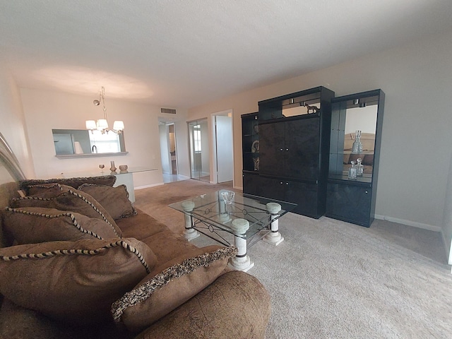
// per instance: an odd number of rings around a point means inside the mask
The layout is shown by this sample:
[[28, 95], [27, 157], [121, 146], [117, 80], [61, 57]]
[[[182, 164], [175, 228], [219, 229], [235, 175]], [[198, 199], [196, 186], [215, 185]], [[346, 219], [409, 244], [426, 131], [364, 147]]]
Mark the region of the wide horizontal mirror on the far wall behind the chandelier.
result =
[[102, 155], [124, 153], [124, 132], [88, 131], [83, 129], [52, 129], [55, 154], [64, 155]]

